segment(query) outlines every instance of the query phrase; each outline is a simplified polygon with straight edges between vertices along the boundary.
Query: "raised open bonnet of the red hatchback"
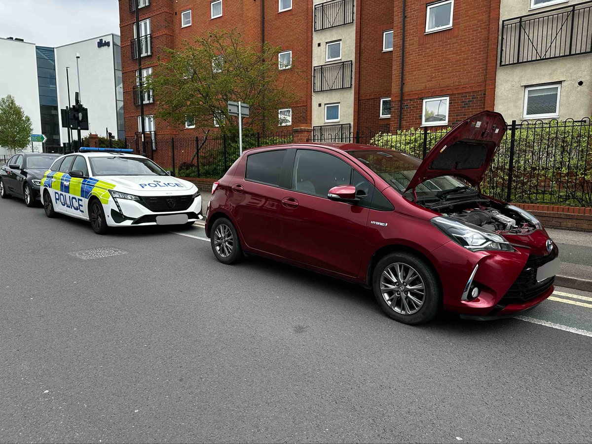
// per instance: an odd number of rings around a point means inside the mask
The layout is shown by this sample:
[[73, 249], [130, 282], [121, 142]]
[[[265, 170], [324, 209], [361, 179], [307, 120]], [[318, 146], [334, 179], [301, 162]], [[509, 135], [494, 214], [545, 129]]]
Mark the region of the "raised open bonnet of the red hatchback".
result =
[[405, 191], [437, 176], [456, 176], [477, 186], [505, 133], [506, 121], [498, 112], [482, 111], [462, 121], [423, 159]]

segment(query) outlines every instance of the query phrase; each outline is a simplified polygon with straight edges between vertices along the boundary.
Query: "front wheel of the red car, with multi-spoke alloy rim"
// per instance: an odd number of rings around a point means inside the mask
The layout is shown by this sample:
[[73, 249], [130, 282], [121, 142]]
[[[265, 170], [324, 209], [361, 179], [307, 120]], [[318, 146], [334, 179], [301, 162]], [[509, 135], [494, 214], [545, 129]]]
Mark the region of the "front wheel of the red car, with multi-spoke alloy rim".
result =
[[382, 310], [404, 324], [431, 321], [442, 303], [436, 273], [411, 253], [390, 253], [380, 259], [372, 274], [372, 289]]

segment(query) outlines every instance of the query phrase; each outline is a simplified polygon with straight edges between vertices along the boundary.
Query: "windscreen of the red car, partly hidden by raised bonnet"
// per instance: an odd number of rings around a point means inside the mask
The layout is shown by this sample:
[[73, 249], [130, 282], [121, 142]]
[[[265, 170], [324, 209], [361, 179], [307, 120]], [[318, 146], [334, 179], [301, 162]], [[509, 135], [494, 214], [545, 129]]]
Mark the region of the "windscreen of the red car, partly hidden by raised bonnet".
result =
[[[348, 154], [364, 163], [392, 188], [403, 194], [422, 161], [394, 150], [351, 150]], [[438, 191], [466, 186], [452, 176], [439, 176], [417, 186], [417, 194], [435, 195]], [[411, 191], [408, 191], [411, 194]]]

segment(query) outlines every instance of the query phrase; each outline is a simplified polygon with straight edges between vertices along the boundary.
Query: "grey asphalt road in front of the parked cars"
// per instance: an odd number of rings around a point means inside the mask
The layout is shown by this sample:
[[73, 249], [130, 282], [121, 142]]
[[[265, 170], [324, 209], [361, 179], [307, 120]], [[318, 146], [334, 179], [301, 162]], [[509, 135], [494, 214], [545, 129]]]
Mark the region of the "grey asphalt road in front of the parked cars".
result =
[[[17, 200], [0, 226], [0, 442], [592, 441], [590, 294], [411, 327], [346, 282], [221, 265], [198, 227], [97, 236]], [[70, 254], [99, 247], [126, 253]]]

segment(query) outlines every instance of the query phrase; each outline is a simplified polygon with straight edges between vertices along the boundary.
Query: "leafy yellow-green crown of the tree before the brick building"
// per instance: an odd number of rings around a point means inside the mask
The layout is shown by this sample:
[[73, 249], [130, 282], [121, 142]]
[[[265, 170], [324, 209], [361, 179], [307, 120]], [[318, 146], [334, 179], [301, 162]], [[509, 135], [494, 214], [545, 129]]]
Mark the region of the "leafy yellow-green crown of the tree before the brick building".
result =
[[238, 118], [228, 114], [227, 103], [241, 101], [250, 105], [245, 128], [277, 128], [278, 110], [295, 99], [288, 76], [278, 69], [280, 51], [268, 43], [245, 43], [236, 30], [215, 29], [193, 43], [184, 41], [180, 50], [165, 49], [168, 60], [159, 60], [144, 88], [159, 102], [156, 117], [175, 125], [195, 122], [207, 133], [215, 124], [221, 133], [234, 134]]

